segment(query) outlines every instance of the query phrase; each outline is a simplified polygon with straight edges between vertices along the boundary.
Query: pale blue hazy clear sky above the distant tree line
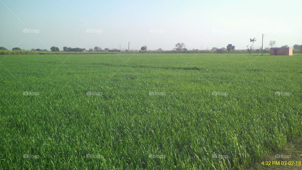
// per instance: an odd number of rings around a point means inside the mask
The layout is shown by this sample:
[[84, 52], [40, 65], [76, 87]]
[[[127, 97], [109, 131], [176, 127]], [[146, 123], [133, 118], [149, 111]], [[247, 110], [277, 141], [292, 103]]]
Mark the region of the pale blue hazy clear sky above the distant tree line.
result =
[[188, 50], [302, 44], [301, 0], [0, 0], [0, 46]]

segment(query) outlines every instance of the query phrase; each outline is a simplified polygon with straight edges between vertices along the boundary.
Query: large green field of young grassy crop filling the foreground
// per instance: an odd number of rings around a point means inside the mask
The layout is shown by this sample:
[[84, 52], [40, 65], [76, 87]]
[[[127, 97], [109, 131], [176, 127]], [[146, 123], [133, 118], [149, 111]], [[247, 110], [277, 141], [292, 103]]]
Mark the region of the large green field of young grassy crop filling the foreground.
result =
[[0, 56], [0, 169], [245, 169], [301, 136], [302, 54], [244, 55]]

